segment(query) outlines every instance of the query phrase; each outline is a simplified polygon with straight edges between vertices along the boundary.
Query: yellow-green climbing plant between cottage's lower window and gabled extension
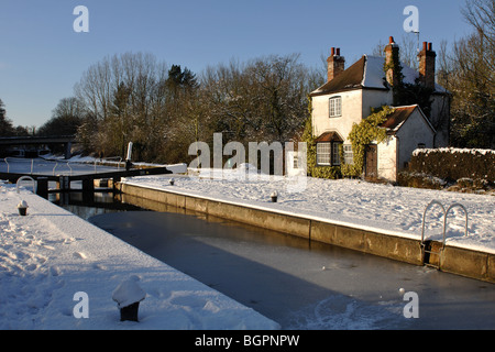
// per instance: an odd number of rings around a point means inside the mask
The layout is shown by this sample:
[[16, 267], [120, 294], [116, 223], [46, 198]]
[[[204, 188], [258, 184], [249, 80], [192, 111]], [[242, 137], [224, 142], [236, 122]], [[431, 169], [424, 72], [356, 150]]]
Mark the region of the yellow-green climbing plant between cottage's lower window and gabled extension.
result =
[[[383, 106], [378, 109], [372, 109], [372, 113], [361, 121], [354, 123], [349, 133], [349, 140], [352, 143], [353, 164], [342, 164], [341, 172], [346, 177], [359, 177], [363, 173], [364, 154], [367, 144], [373, 142], [382, 143], [386, 140], [387, 134], [384, 128], [380, 125], [387, 120], [387, 117], [395, 111], [389, 106]], [[343, 161], [343, 157], [341, 157]]]

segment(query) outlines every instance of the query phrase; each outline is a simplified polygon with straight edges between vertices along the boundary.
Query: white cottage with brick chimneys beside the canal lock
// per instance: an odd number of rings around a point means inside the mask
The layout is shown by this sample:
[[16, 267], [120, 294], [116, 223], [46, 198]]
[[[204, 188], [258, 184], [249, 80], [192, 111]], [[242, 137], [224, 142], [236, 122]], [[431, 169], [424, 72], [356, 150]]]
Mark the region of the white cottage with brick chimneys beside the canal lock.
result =
[[[448, 146], [450, 95], [436, 84], [436, 53], [431, 43], [424, 43], [418, 54], [419, 72], [402, 64], [402, 75], [397, 73], [392, 64], [395, 57], [398, 59], [398, 54], [399, 47], [391, 37], [385, 57], [363, 55], [345, 69], [340, 48], [332, 48], [328, 58], [328, 81], [310, 94], [318, 166], [352, 164], [349, 133], [353, 124], [367, 118], [372, 108], [382, 106], [392, 106], [395, 111], [381, 125], [386, 129], [387, 139], [366, 146], [363, 170], [366, 177], [395, 182], [416, 148]], [[394, 87], [398, 87], [400, 80], [402, 87], [410, 90], [406, 91], [409, 103], [394, 107]], [[429, 92], [424, 109], [415, 101], [420, 87]]]

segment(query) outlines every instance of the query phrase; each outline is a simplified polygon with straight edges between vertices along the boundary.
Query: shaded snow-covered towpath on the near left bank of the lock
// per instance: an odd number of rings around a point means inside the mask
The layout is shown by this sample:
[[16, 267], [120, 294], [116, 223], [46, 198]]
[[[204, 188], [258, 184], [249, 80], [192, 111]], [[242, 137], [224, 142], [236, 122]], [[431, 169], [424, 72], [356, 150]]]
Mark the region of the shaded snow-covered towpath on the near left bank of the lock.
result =
[[[0, 329], [267, 330], [278, 324], [26, 190], [0, 185]], [[18, 215], [24, 199], [28, 216]], [[113, 290], [133, 275], [140, 322], [120, 322]], [[77, 319], [75, 294], [88, 295]]]

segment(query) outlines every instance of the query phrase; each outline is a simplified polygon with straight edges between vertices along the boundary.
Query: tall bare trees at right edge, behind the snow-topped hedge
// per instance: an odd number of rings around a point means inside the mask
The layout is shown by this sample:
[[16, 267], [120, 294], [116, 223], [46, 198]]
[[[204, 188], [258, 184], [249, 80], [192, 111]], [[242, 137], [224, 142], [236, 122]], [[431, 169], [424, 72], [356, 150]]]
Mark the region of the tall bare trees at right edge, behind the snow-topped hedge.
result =
[[495, 1], [466, 1], [462, 13], [474, 33], [440, 56], [439, 80], [452, 92], [452, 142], [495, 147]]

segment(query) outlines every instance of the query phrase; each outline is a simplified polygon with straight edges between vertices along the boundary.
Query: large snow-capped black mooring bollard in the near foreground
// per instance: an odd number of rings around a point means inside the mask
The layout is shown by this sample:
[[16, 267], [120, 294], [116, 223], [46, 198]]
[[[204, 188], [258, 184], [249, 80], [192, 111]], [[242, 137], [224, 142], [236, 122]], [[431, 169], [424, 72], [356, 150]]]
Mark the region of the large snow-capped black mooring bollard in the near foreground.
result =
[[139, 321], [140, 302], [146, 297], [146, 293], [138, 285], [139, 280], [140, 278], [133, 275], [112, 294], [112, 299], [120, 309], [120, 321]]

